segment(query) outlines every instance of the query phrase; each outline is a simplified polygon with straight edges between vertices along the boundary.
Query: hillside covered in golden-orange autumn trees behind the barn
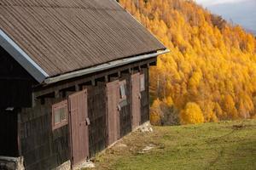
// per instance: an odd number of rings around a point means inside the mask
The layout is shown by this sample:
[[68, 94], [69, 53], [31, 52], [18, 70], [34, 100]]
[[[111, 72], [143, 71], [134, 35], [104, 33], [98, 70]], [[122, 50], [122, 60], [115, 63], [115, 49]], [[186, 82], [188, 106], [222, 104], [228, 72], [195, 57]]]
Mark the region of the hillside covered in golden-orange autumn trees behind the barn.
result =
[[154, 124], [252, 118], [256, 41], [241, 26], [183, 0], [119, 0], [171, 49], [150, 73]]

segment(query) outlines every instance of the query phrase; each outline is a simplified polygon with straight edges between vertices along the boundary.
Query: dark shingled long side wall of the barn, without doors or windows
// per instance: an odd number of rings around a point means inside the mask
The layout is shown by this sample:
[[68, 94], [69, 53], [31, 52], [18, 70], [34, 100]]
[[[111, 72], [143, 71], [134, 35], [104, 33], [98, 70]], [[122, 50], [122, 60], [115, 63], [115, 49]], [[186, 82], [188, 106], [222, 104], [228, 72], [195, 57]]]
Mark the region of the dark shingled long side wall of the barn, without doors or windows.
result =
[[[138, 68], [138, 67], [137, 67]], [[135, 72], [138, 70], [136, 69]], [[126, 97], [127, 105], [121, 107], [120, 114], [120, 136], [131, 132], [131, 72], [120, 71], [119, 74], [114, 74], [114, 78], [109, 76], [108, 81], [119, 79], [126, 81]], [[145, 88], [142, 92], [142, 107], [141, 120], [142, 123], [148, 121], [148, 68], [143, 67], [140, 71], [145, 74]], [[102, 74], [102, 73], [101, 73]], [[109, 75], [106, 72], [106, 75]], [[120, 77], [119, 77], [120, 76]], [[107, 128], [107, 104], [106, 104], [106, 77], [95, 80], [95, 83], [85, 85], [88, 79], [84, 81], [75, 80], [81, 84], [74, 82], [58, 83], [56, 86], [44, 88], [41, 94], [34, 92], [38, 98], [34, 100], [32, 108], [23, 108], [18, 113], [18, 135], [20, 136], [20, 155], [25, 158], [26, 169], [50, 169], [58, 167], [63, 162], [71, 159], [70, 156], [70, 134], [69, 125], [52, 131], [52, 105], [64, 99], [67, 99], [69, 94], [81, 90], [83, 87], [88, 90], [88, 116], [90, 118], [89, 126], [89, 144], [90, 156], [95, 156], [97, 152], [105, 149], [108, 145], [108, 128]], [[102, 80], [99, 81], [99, 80]], [[59, 88], [61, 87], [61, 88]], [[63, 88], [62, 88], [63, 87]], [[50, 93], [51, 92], [51, 93]], [[4, 127], [7, 128], [7, 127]], [[18, 144], [19, 146], [19, 144]], [[18, 149], [17, 149], [18, 150]]]

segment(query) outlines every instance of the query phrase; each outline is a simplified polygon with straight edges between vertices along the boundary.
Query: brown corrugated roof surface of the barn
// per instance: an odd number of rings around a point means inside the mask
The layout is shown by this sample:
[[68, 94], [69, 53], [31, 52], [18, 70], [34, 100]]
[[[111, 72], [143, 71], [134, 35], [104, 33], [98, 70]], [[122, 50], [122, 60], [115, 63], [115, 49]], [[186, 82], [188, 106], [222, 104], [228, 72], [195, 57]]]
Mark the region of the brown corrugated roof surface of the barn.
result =
[[0, 28], [49, 77], [165, 49], [115, 0], [0, 0]]

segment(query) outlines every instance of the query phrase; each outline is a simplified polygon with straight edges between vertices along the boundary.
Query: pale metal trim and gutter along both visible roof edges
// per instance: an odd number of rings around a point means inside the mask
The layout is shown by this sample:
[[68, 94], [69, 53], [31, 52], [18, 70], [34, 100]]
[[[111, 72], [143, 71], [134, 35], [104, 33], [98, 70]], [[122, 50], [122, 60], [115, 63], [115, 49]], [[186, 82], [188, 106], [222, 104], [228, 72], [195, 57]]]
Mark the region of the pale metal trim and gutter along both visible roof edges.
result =
[[161, 54], [169, 53], [169, 49], [161, 50], [152, 54], [137, 55], [131, 58], [117, 59], [102, 65], [86, 68], [79, 71], [73, 71], [62, 74], [57, 77], [49, 75], [36, 64], [4, 31], [0, 29], [0, 45], [4, 48], [35, 80], [46, 85], [61, 82], [75, 77], [81, 77], [98, 71], [105, 71], [121, 65], [131, 64], [143, 59], [154, 58]]

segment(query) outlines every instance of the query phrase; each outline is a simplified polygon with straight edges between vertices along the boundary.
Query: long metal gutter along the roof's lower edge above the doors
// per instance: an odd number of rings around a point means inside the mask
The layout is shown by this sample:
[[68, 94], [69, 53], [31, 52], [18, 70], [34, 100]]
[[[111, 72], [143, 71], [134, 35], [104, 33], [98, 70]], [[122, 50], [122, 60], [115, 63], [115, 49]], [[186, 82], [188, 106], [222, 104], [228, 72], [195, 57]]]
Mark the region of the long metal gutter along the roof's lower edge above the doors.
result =
[[68, 80], [68, 79], [71, 79], [74, 77], [81, 77], [84, 75], [88, 75], [90, 73], [94, 73], [97, 71], [104, 71], [104, 70], [108, 70], [108, 69], [111, 69], [111, 68], [114, 68], [117, 66], [127, 65], [127, 64], [139, 61], [139, 60], [150, 59], [150, 58], [156, 57], [158, 55], [166, 54], [169, 52], [170, 52], [170, 50], [166, 48], [165, 50], [158, 51], [153, 54], [143, 54], [143, 55], [137, 55], [136, 57], [132, 57], [132, 58], [118, 59], [118, 60], [114, 60], [114, 61], [102, 64], [102, 65], [96, 65], [94, 67], [86, 68], [86, 69], [83, 69], [80, 71], [73, 71], [73, 72], [63, 74], [63, 75], [60, 75], [57, 77], [49, 77], [44, 80], [44, 83], [52, 84], [55, 82], [61, 82], [61, 81]]

